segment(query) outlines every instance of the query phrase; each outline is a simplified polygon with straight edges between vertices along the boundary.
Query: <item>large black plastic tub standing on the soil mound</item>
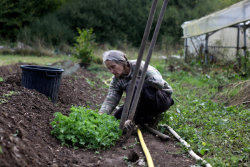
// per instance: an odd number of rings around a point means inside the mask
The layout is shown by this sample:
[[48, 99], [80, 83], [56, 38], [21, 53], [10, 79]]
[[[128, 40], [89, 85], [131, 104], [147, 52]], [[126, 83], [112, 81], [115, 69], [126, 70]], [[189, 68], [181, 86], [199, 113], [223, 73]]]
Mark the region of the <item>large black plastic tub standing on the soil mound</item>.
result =
[[21, 65], [22, 86], [50, 97], [57, 102], [63, 69], [46, 66]]

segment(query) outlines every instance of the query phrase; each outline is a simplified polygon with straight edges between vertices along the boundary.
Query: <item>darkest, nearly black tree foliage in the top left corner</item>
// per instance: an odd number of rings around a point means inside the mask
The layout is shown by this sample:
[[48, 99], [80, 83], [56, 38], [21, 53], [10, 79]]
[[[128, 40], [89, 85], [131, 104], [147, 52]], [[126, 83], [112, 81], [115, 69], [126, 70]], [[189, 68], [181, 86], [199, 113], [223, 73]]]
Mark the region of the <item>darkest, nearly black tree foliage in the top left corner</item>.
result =
[[0, 37], [14, 41], [18, 31], [35, 18], [55, 11], [65, 0], [1, 0]]

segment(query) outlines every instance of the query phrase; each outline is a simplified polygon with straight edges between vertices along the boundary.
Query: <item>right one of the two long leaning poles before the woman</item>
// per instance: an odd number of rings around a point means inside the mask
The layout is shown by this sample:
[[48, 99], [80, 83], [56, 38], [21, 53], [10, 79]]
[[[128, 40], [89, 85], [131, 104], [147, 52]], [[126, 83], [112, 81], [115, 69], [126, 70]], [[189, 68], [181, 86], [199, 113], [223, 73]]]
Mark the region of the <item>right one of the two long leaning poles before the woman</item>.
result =
[[150, 62], [150, 59], [151, 59], [151, 56], [152, 56], [152, 52], [154, 50], [154, 46], [155, 46], [157, 36], [158, 36], [159, 30], [160, 30], [160, 27], [161, 27], [163, 16], [164, 16], [165, 10], [167, 8], [167, 4], [168, 4], [168, 0], [164, 0], [162, 8], [161, 8], [160, 16], [159, 16], [159, 19], [157, 21], [156, 28], [155, 28], [155, 31], [154, 31], [154, 34], [153, 34], [153, 38], [152, 38], [152, 41], [150, 43], [148, 55], [147, 55], [147, 58], [146, 58], [146, 61], [145, 61], [144, 67], [143, 67], [141, 78], [140, 78], [139, 84], [138, 84], [137, 89], [136, 89], [134, 100], [132, 102], [132, 106], [131, 106], [130, 113], [129, 113], [129, 116], [128, 116], [129, 120], [134, 119], [135, 110], [136, 110], [136, 107], [137, 107], [137, 104], [138, 104], [138, 100], [140, 98], [140, 94], [141, 94], [142, 86], [143, 86], [143, 83], [144, 83], [144, 80], [145, 80], [148, 65], [149, 65], [149, 62]]

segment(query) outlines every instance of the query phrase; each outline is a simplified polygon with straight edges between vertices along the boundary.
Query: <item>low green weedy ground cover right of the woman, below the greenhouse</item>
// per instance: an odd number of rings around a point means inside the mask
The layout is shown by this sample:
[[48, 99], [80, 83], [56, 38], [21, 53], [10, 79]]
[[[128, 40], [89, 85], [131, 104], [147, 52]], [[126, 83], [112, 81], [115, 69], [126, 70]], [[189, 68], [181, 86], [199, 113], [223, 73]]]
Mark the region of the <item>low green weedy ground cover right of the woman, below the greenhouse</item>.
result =
[[165, 114], [163, 123], [169, 124], [212, 166], [246, 165], [249, 162], [250, 110], [241, 106], [225, 107], [223, 103], [210, 100], [218, 93], [218, 86], [232, 79], [225, 73], [194, 76], [183, 71], [164, 76], [173, 86], [175, 105]]

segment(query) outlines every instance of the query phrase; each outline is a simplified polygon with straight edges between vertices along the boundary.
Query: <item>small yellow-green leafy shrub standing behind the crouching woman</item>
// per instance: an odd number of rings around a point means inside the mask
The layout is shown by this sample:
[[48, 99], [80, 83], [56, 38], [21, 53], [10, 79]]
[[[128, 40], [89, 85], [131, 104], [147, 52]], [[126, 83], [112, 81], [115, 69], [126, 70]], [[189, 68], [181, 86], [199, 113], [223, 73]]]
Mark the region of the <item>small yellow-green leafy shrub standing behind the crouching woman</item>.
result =
[[81, 64], [89, 65], [93, 61], [93, 29], [77, 28], [79, 36], [76, 37], [74, 56], [81, 60]]

